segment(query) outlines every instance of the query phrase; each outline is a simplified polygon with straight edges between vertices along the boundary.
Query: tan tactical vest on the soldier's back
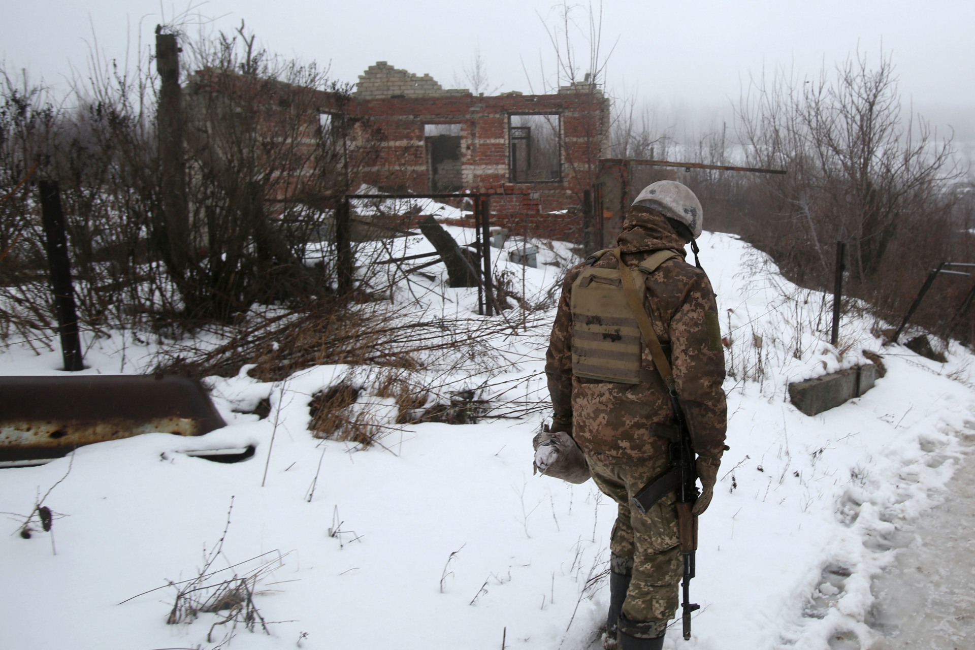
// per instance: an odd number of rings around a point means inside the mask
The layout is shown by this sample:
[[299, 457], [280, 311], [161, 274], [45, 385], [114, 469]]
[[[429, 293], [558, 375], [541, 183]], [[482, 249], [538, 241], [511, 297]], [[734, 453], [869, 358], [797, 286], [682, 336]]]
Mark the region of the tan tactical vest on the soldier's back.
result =
[[657, 250], [636, 269], [630, 269], [621, 260], [616, 260], [615, 269], [593, 267], [609, 250], [590, 255], [572, 283], [572, 374], [639, 384], [640, 325], [623, 292], [620, 268], [633, 274], [637, 287], [645, 287], [642, 273], [650, 274], [664, 261], [680, 255], [673, 250]]

